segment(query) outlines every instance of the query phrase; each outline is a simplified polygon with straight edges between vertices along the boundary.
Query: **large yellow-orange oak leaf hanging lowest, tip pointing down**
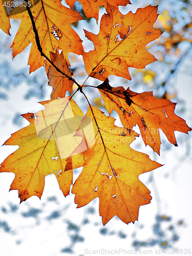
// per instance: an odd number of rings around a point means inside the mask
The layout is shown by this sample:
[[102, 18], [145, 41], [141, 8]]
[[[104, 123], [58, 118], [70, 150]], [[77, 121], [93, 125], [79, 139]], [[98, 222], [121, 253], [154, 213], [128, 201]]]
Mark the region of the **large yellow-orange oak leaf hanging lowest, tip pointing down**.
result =
[[114, 125], [114, 118], [105, 116], [92, 105], [86, 116], [92, 119], [94, 127], [94, 136], [90, 132], [87, 137], [94, 137], [95, 143], [80, 154], [84, 164], [72, 188], [75, 203], [82, 207], [99, 197], [103, 225], [115, 215], [125, 223], [134, 223], [138, 220], [139, 207], [152, 199], [138, 176], [161, 164], [132, 150], [130, 143], [139, 135]]

